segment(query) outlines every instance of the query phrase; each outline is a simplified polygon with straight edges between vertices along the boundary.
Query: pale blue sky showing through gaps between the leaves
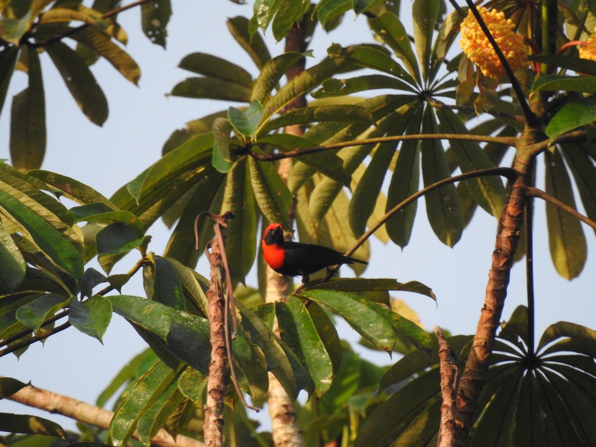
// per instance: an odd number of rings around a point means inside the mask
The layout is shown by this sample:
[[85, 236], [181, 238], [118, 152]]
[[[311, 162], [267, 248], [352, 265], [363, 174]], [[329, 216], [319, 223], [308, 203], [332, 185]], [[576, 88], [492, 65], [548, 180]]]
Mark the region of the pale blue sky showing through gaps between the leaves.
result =
[[[166, 97], [176, 83], [193, 76], [177, 68], [182, 57], [197, 51], [215, 54], [245, 67], [256, 77], [256, 67], [229, 35], [225, 23], [226, 18], [236, 15], [250, 17], [252, 3], [237, 5], [221, 0], [207, 6], [206, 2], [174, 0], [172, 6], [166, 50], [151, 44], [142, 35], [138, 8], [120, 14], [119, 23], [129, 35], [126, 50], [141, 67], [142, 75], [136, 87], [104, 60], [92, 67], [110, 107], [110, 115], [102, 128], [83, 116], [49, 57], [42, 55], [48, 117], [48, 145], [42, 169], [71, 176], [110, 197], [119, 187], [160, 158], [162, 145], [173, 130], [184, 127], [190, 120], [228, 107], [229, 104], [221, 101]], [[403, 21], [406, 23], [409, 20]], [[283, 42], [275, 45], [271, 32], [267, 37], [272, 55], [283, 52]], [[353, 14], [347, 13], [339, 30], [327, 35], [318, 29], [313, 42], [313, 55], [320, 60], [325, 56], [325, 49], [333, 42], [347, 46], [373, 42], [373, 38], [365, 17], [354, 18]], [[307, 63], [312, 64], [311, 59]], [[26, 82], [26, 75], [21, 72], [15, 73], [11, 81], [7, 101], [0, 115], [0, 158], [10, 158], [11, 98], [26, 86]], [[539, 187], [544, 185], [541, 172], [542, 168], [539, 167]], [[596, 268], [592, 253], [596, 244], [594, 232], [586, 226], [584, 230], [588, 238], [588, 262], [578, 279], [566, 281], [558, 276], [552, 266], [544, 203], [536, 202], [534, 259], [537, 340], [548, 325], [557, 321], [596, 327], [592, 310], [595, 285], [593, 272]], [[450, 249], [434, 236], [424, 204], [420, 203], [409, 245], [402, 251], [391, 243], [383, 246], [373, 239], [370, 266], [364, 276], [396, 278], [401, 282], [417, 280], [429, 285], [437, 296], [437, 303], [416, 294], [402, 294], [399, 297], [418, 312], [427, 330], [440, 325], [452, 333], [472, 334], [476, 331], [484, 301], [495, 231], [495, 219], [479, 210], [465, 229], [460, 242]], [[153, 236], [150, 250], [161, 254], [169, 230], [159, 221], [148, 230], [148, 234]], [[116, 264], [112, 273], [125, 273], [137, 257], [136, 252], [125, 257]], [[197, 271], [208, 276], [209, 268], [204, 257], [201, 257]], [[349, 275], [351, 271], [344, 268], [343, 273]], [[247, 278], [247, 284], [256, 285], [254, 272]], [[525, 290], [524, 264], [517, 263], [511, 275], [504, 319], [511, 315], [516, 306], [526, 302]], [[144, 296], [141, 275], [136, 275], [126, 284], [122, 293]], [[358, 340], [357, 334], [345, 324], [340, 325], [339, 332], [342, 338]], [[31, 380], [40, 388], [94, 403], [117, 371], [145, 347], [132, 327], [114, 314], [103, 345], [71, 327], [50, 337], [44, 344], [34, 344], [18, 360], [14, 355], [0, 358], [0, 374], [24, 382]], [[364, 348], [361, 351], [379, 365], [392, 363], [384, 353], [369, 352]], [[6, 400], [0, 402], [0, 412], [42, 415], [63, 424], [67, 429], [75, 427], [74, 421], [65, 417]]]

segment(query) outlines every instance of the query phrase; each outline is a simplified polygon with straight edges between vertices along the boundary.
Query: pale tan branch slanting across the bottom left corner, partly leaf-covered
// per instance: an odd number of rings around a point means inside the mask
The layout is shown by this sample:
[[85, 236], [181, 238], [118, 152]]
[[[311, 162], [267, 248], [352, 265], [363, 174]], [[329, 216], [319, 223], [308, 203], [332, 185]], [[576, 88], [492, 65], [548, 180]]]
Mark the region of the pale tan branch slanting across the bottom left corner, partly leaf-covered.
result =
[[[23, 403], [23, 405], [32, 406], [33, 408], [61, 414], [106, 430], [110, 428], [110, 421], [114, 417], [114, 413], [107, 409], [33, 386], [24, 387], [7, 399]], [[136, 432], [132, 434], [132, 437], [138, 439]], [[181, 434], [174, 440], [164, 429], [160, 429], [157, 432], [156, 436], [151, 440], [151, 444], [163, 447], [205, 447], [203, 442], [182, 436]]]

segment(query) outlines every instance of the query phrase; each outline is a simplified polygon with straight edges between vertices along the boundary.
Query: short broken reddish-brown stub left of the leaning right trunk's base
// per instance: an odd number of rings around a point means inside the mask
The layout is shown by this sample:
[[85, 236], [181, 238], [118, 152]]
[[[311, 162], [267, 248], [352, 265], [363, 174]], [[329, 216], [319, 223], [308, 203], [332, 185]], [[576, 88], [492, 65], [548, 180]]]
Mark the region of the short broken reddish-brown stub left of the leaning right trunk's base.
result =
[[445, 340], [439, 326], [434, 327], [434, 333], [439, 341], [439, 363], [441, 376], [441, 423], [439, 426], [439, 440], [437, 447], [452, 447], [455, 445], [455, 402], [457, 400], [457, 381], [459, 371], [455, 364], [454, 353]]

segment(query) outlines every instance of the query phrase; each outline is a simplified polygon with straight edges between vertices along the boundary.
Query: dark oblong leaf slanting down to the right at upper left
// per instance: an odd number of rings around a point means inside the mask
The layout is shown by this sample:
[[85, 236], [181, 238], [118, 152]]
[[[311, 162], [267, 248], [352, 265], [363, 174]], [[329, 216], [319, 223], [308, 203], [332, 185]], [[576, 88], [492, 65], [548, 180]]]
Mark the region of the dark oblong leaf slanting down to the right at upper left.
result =
[[63, 42], [45, 46], [80, 110], [98, 126], [108, 117], [108, 103], [95, 76], [80, 55]]

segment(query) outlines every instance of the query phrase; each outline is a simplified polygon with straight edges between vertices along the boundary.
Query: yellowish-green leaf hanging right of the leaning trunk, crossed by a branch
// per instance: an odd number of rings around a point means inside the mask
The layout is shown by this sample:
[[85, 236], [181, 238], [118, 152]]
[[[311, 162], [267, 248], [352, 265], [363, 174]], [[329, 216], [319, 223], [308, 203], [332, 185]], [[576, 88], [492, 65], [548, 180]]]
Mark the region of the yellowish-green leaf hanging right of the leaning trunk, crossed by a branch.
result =
[[[550, 194], [575, 209], [569, 173], [558, 150], [545, 153], [546, 188]], [[588, 256], [581, 222], [569, 213], [547, 203], [548, 242], [557, 272], [568, 280], [580, 274]]]

